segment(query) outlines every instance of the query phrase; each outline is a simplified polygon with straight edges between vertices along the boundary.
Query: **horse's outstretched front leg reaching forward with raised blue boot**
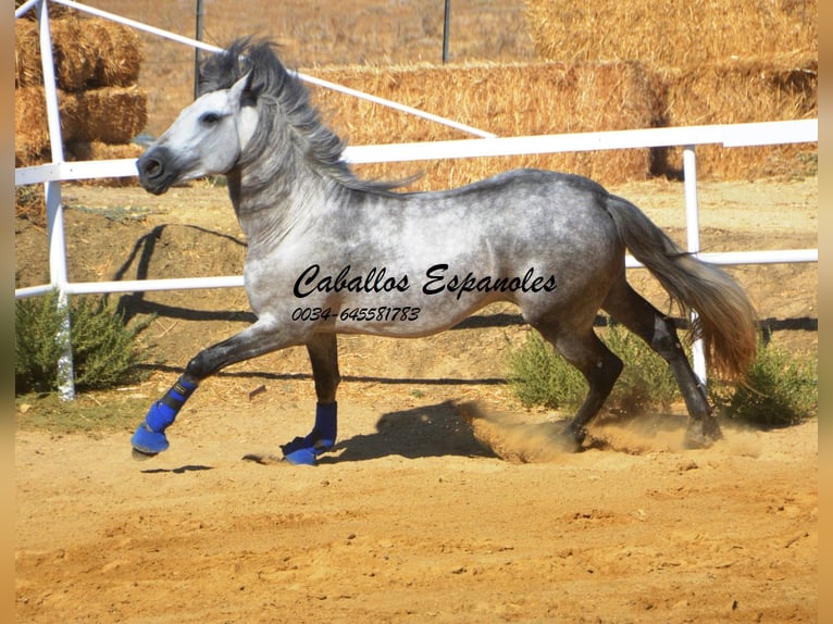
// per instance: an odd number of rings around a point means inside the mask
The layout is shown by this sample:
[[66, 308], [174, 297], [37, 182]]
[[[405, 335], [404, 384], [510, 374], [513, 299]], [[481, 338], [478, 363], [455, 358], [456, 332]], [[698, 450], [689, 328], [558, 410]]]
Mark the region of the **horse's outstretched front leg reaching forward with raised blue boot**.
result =
[[258, 321], [239, 334], [200, 351], [185, 367], [176, 383], [150, 407], [145, 421], [130, 438], [136, 459], [147, 459], [167, 449], [165, 429], [176, 420], [185, 402], [206, 377], [217, 371], [271, 351], [303, 342], [285, 328], [268, 321]]

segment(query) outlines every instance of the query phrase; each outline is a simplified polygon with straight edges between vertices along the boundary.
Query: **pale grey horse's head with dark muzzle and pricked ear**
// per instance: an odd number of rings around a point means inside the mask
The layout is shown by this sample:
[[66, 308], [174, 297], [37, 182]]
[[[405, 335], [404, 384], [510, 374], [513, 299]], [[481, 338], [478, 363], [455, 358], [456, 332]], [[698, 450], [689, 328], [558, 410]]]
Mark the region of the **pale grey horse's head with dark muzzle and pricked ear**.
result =
[[161, 195], [176, 183], [226, 174], [234, 167], [258, 122], [250, 80], [249, 73], [228, 89], [199, 97], [179, 113], [136, 161], [145, 190]]

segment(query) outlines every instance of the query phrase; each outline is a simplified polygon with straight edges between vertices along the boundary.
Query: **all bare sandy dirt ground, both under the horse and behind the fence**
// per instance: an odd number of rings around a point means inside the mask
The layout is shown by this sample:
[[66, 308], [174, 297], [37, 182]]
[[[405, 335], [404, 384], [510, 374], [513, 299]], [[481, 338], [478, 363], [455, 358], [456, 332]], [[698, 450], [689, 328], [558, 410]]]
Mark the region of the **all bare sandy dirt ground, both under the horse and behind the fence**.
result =
[[[684, 238], [679, 184], [614, 190]], [[64, 199], [75, 280], [239, 273], [223, 189]], [[815, 178], [705, 183], [700, 201], [709, 250], [817, 247]], [[15, 244], [18, 286], [40, 283], [42, 228], [18, 220]], [[732, 271], [772, 339], [815, 357], [816, 265]], [[130, 305], [158, 314], [146, 333], [158, 365], [84, 400], [149, 404], [247, 323], [239, 289]], [[502, 382], [526, 332], [512, 314], [487, 309], [420, 340], [343, 339], [340, 441], [316, 467], [270, 459], [312, 423], [300, 350], [206, 382], [171, 449], [146, 462], [130, 459], [128, 428], [59, 435], [18, 410], [17, 621], [816, 622], [817, 421], [728, 423], [723, 441], [692, 451], [674, 409], [602, 419], [599, 448], [559, 452], [544, 425], [556, 414], [524, 410]]]

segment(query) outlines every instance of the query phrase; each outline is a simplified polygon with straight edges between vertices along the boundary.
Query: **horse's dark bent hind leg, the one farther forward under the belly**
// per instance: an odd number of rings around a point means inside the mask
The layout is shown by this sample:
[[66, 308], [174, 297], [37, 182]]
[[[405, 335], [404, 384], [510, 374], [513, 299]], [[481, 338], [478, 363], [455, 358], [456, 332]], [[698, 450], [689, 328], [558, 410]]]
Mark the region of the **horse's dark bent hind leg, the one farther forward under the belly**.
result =
[[581, 371], [589, 385], [587, 397], [569, 426], [576, 447], [581, 448], [587, 425], [598, 414], [622, 372], [622, 361], [599, 340], [592, 324], [584, 330], [547, 323], [536, 323], [533, 326], [564, 360]]

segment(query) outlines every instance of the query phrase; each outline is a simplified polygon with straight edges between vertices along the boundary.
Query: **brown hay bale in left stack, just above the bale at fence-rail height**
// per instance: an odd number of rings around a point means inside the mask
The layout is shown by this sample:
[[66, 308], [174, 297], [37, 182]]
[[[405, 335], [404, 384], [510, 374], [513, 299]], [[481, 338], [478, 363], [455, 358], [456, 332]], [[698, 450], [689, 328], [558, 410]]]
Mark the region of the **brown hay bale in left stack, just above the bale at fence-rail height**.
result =
[[[132, 28], [100, 17], [64, 17], [50, 26], [60, 89], [125, 87], [138, 80], [142, 54]], [[15, 86], [42, 85], [37, 23], [17, 20], [14, 33]]]

